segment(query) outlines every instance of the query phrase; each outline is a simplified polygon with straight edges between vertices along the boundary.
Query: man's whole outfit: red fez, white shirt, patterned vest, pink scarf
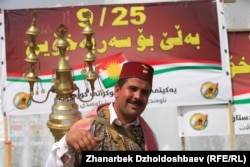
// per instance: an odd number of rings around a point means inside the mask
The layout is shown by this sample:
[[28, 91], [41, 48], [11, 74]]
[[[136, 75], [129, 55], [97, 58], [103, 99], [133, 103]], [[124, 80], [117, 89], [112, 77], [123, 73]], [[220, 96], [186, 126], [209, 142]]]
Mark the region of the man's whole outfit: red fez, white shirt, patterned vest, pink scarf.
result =
[[[152, 86], [153, 74], [154, 69], [150, 65], [140, 62], [127, 62], [123, 64], [119, 80], [140, 78], [147, 81]], [[125, 125], [125, 127], [128, 128], [115, 125], [114, 122], [116, 122], [117, 119], [113, 118], [113, 116], [115, 117], [116, 115], [111, 105], [112, 104], [104, 104], [93, 108], [87, 114], [86, 118], [81, 119], [72, 125], [71, 130], [88, 130], [92, 132], [94, 136], [103, 139], [97, 145], [97, 150], [99, 151], [158, 150], [154, 133], [141, 116], [135, 121], [139, 126], [133, 126], [134, 122], [131, 123], [131, 126], [130, 124]], [[53, 144], [52, 152], [46, 162], [47, 167], [72, 167], [74, 163], [78, 165], [78, 156], [75, 155], [73, 148], [66, 143], [65, 138], [66, 136], [63, 136], [59, 142]], [[65, 164], [61, 159], [63, 155], [69, 157], [69, 160]]]

